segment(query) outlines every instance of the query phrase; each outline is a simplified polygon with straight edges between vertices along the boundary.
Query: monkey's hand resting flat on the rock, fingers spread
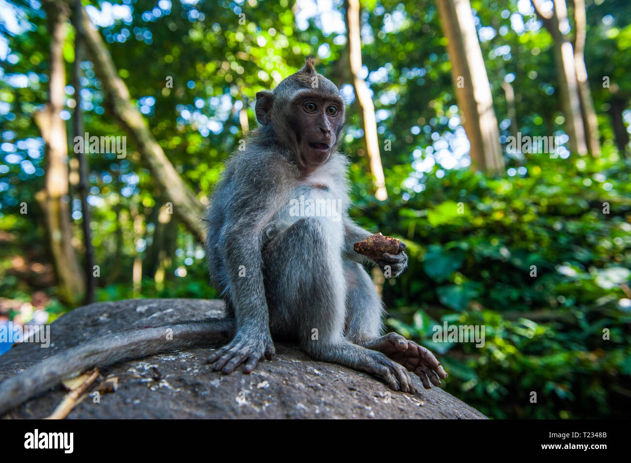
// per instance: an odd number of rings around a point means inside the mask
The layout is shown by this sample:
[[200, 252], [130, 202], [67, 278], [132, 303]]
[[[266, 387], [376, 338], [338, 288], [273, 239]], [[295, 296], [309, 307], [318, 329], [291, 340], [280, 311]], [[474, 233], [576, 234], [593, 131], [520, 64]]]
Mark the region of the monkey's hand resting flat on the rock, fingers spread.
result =
[[243, 372], [251, 373], [262, 357], [271, 360], [275, 352], [269, 333], [250, 333], [240, 329], [230, 343], [211, 353], [206, 362], [214, 363], [213, 370], [221, 370], [223, 374], [231, 373], [245, 362]]

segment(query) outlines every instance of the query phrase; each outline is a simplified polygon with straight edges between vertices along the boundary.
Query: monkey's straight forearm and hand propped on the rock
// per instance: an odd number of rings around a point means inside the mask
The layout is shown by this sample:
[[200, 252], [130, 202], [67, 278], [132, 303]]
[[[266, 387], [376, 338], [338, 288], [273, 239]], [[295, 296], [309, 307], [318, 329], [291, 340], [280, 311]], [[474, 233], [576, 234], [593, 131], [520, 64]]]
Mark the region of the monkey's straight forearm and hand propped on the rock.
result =
[[[259, 220], [252, 221], [251, 217], [259, 217]], [[262, 272], [264, 217], [263, 212], [254, 210], [227, 226], [224, 258], [237, 334], [228, 345], [208, 357], [208, 362], [214, 363], [213, 370], [225, 374], [243, 362], [244, 372], [250, 373], [263, 356], [269, 360], [274, 355]]]

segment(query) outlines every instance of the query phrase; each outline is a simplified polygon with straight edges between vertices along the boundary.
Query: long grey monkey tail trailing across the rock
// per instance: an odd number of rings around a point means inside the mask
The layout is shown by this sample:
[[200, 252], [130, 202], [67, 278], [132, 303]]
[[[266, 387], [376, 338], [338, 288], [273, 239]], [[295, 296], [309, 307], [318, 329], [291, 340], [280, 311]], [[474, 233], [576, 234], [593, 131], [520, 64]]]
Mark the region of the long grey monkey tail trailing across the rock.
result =
[[[172, 329], [172, 336], [167, 332]], [[141, 358], [184, 348], [220, 346], [232, 339], [232, 318], [185, 321], [123, 333], [107, 334], [64, 350], [0, 384], [0, 416], [30, 397], [59, 384], [73, 374], [93, 367], [107, 367], [121, 360]]]

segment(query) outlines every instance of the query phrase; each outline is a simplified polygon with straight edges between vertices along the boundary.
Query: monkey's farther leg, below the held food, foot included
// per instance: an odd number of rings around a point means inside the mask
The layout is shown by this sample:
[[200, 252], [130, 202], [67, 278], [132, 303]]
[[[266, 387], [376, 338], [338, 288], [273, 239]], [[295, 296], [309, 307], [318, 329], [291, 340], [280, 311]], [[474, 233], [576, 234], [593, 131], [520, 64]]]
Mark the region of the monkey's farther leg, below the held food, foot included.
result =
[[346, 338], [400, 363], [420, 378], [425, 389], [430, 388], [430, 382], [439, 386], [440, 379], [445, 379], [447, 373], [432, 352], [398, 333], [379, 336], [384, 311], [368, 273], [360, 264], [351, 261], [345, 262], [345, 273], [348, 287]]

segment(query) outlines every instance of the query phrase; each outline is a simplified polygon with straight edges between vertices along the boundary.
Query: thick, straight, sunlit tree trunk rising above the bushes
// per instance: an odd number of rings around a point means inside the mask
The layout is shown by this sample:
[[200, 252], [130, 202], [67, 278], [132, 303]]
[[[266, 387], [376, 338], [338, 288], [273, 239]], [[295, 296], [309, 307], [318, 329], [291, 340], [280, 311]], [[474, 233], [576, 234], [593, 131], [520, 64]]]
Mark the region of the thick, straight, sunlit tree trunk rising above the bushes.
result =
[[478, 42], [469, 0], [438, 0], [442, 27], [447, 37], [451, 75], [471, 144], [471, 167], [480, 171], [504, 171], [500, 133], [493, 110], [487, 69]]

